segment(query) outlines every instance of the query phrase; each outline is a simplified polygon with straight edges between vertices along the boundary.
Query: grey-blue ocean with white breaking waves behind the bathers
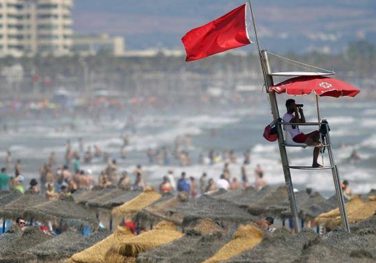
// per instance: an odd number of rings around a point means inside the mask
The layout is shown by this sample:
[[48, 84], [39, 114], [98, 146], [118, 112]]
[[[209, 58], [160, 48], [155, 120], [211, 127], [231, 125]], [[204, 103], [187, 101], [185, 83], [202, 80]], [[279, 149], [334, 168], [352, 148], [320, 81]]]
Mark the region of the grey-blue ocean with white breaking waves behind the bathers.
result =
[[[39, 168], [48, 160], [54, 151], [59, 164], [64, 164], [65, 143], [71, 140], [74, 149], [78, 150], [78, 138], [82, 137], [85, 149], [88, 146], [99, 146], [102, 151], [116, 159], [118, 170], [132, 172], [136, 165], [143, 165], [148, 184], [158, 186], [168, 169], [173, 169], [174, 176], [180, 177], [185, 171], [188, 176], [201, 176], [206, 172], [209, 178], [217, 180], [223, 169], [224, 162], [209, 164], [208, 153], [214, 150], [218, 155], [222, 151], [233, 150], [237, 163], [230, 163], [231, 175], [241, 180], [241, 163], [243, 153], [251, 151], [251, 163], [247, 165], [250, 183], [254, 182], [254, 169], [260, 164], [264, 169], [264, 177], [268, 184], [284, 183], [282, 165], [280, 163], [277, 142], [268, 142], [262, 137], [265, 125], [272, 121], [267, 97], [257, 94], [258, 98], [242, 106], [222, 103], [214, 108], [192, 107], [189, 110], [170, 110], [163, 113], [145, 110], [135, 116], [135, 130], [124, 129], [128, 112], [116, 112], [102, 121], [92, 121], [83, 116], [76, 118], [39, 118], [33, 120], [3, 120], [8, 125], [8, 133], [0, 133], [0, 160], [5, 165], [6, 151], [12, 154], [11, 171], [17, 159], [21, 159], [22, 175], [25, 186], [31, 178], [39, 179]], [[284, 102], [287, 95], [277, 95], [280, 115], [285, 113]], [[295, 97], [297, 102], [304, 103], [306, 120], [317, 121], [316, 105], [313, 95]], [[220, 102], [219, 102], [220, 103]], [[327, 119], [331, 128], [331, 139], [335, 161], [339, 166], [341, 178], [349, 181], [355, 193], [365, 193], [376, 188], [376, 104], [374, 101], [358, 100], [357, 98], [320, 98], [320, 115]], [[74, 122], [75, 130], [62, 127]], [[17, 127], [17, 131], [14, 129]], [[315, 127], [300, 127], [308, 132]], [[212, 136], [216, 130], [217, 136]], [[121, 134], [129, 136], [126, 159], [120, 158], [123, 145]], [[179, 166], [179, 162], [171, 156], [169, 166], [149, 164], [147, 149], [154, 150], [168, 147], [173, 153], [176, 136], [184, 138], [189, 135], [191, 144], [182, 146], [192, 160], [190, 166]], [[352, 151], [358, 151], [361, 159], [357, 162], [349, 160]], [[199, 155], [203, 154], [205, 163], [199, 164]], [[83, 154], [81, 153], [81, 156]], [[288, 148], [290, 165], [311, 165], [312, 148]], [[82, 158], [81, 158], [82, 160]], [[321, 156], [319, 156], [321, 163]], [[327, 153], [324, 165], [329, 165]], [[72, 168], [73, 165], [71, 165]], [[102, 159], [94, 159], [90, 164], [82, 164], [85, 170], [90, 169], [95, 177], [106, 168]], [[330, 170], [303, 171], [291, 170], [294, 188], [302, 190], [311, 187], [324, 196], [334, 194], [333, 178]], [[134, 179], [131, 175], [132, 180]]]

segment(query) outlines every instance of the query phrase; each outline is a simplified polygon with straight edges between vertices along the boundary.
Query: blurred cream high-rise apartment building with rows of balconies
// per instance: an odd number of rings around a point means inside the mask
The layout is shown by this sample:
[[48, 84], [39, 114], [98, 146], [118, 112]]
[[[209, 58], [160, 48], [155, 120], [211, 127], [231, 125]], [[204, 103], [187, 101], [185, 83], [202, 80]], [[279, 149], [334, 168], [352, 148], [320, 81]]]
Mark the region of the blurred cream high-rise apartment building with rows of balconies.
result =
[[70, 53], [73, 0], [0, 0], [0, 56]]

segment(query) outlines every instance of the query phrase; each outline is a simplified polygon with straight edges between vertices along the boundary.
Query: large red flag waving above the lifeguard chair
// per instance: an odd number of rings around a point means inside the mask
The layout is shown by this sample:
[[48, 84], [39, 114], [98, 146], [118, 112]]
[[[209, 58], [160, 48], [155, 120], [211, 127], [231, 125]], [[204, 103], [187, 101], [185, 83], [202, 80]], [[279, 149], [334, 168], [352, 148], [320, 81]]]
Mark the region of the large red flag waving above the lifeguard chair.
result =
[[202, 59], [251, 44], [246, 31], [246, 4], [204, 26], [192, 29], [183, 36], [182, 41], [187, 54], [185, 61]]

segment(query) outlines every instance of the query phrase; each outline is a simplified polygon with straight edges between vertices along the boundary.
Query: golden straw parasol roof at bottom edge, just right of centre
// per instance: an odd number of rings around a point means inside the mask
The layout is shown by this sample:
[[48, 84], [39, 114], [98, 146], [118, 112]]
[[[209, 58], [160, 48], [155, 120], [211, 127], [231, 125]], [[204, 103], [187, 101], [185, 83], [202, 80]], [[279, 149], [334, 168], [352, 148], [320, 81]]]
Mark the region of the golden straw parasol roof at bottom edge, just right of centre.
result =
[[233, 239], [203, 263], [223, 262], [243, 251], [253, 248], [261, 242], [263, 236], [264, 231], [255, 225], [241, 225], [234, 233]]

